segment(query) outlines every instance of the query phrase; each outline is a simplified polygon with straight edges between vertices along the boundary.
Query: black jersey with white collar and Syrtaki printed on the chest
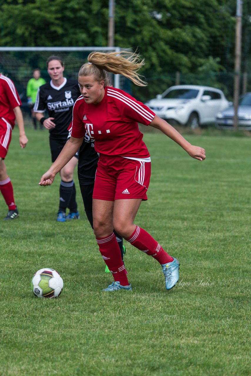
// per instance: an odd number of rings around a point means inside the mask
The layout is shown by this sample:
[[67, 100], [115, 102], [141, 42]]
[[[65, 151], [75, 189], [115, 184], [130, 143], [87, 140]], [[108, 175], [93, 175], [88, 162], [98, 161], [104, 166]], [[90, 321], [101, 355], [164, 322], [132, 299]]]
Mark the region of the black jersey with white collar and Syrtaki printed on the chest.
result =
[[67, 138], [67, 128], [72, 120], [73, 105], [79, 94], [78, 82], [66, 78], [58, 87], [50, 81], [38, 89], [33, 109], [35, 112], [41, 113], [47, 110], [49, 117], [54, 118], [53, 122], [56, 126], [49, 130], [51, 138]]

